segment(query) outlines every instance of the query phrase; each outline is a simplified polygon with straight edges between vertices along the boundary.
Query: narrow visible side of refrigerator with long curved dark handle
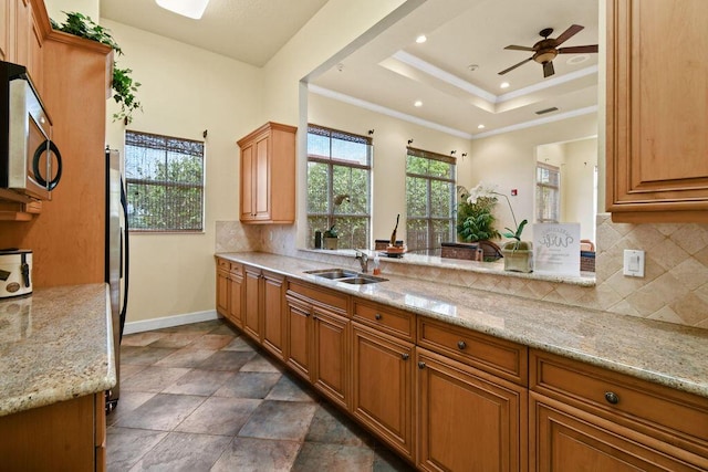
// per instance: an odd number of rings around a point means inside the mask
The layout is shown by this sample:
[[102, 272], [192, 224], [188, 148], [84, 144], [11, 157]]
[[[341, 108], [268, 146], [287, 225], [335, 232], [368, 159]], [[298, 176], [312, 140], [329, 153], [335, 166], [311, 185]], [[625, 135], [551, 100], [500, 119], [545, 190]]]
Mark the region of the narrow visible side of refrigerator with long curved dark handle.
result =
[[116, 385], [106, 392], [106, 412], [112, 411], [121, 396], [121, 339], [125, 325], [128, 302], [128, 224], [127, 200], [121, 155], [106, 147], [106, 230], [105, 230], [105, 282], [111, 290], [111, 315], [113, 321], [113, 347]]

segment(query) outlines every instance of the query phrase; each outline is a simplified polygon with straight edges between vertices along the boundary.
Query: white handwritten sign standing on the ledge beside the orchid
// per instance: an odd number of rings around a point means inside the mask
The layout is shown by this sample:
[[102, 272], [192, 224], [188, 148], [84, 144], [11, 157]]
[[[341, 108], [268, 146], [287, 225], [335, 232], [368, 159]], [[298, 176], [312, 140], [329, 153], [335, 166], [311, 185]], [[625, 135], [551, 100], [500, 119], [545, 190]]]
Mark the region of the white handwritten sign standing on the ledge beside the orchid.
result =
[[580, 223], [537, 223], [533, 240], [533, 272], [580, 276]]

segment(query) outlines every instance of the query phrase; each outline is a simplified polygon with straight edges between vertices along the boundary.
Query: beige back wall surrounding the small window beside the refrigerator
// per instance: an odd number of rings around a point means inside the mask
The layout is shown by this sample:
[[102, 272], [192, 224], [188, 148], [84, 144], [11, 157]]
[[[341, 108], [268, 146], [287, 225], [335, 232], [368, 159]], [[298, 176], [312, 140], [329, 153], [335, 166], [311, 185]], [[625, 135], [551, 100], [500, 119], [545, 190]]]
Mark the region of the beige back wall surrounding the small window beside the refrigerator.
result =
[[[260, 124], [262, 71], [221, 55], [102, 20], [142, 85], [143, 113], [127, 127], [111, 119], [107, 143], [123, 151], [125, 129], [206, 143], [206, 219], [199, 234], [131, 234], [127, 321], [214, 310], [216, 221], [238, 219], [236, 140]], [[202, 132], [208, 132], [202, 138]]]

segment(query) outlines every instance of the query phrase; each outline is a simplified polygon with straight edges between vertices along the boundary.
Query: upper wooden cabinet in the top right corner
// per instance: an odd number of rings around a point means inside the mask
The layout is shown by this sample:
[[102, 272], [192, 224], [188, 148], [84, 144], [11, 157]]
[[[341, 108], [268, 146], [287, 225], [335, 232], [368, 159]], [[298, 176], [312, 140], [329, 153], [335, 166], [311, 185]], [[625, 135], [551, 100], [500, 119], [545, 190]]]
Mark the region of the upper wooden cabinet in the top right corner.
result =
[[607, 2], [606, 207], [708, 221], [708, 2]]

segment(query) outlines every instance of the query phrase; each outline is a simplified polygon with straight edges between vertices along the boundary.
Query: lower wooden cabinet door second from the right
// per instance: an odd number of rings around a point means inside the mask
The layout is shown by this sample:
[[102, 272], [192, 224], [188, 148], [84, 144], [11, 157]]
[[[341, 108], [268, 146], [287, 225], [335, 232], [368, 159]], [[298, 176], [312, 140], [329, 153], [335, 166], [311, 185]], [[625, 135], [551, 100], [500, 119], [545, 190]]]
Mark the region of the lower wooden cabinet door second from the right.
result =
[[416, 361], [418, 468], [527, 470], [525, 388], [421, 348]]

